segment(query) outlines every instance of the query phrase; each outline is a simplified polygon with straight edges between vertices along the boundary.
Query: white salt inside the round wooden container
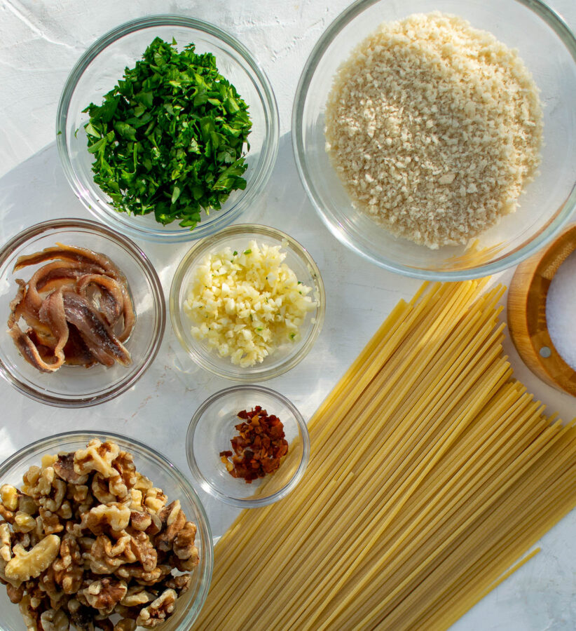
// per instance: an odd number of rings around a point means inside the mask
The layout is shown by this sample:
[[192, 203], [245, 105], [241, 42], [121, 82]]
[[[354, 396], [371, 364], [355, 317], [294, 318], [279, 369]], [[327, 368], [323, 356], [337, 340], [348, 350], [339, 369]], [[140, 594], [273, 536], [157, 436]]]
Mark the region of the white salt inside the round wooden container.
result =
[[576, 252], [563, 262], [552, 278], [546, 301], [546, 321], [552, 344], [563, 360], [576, 370]]

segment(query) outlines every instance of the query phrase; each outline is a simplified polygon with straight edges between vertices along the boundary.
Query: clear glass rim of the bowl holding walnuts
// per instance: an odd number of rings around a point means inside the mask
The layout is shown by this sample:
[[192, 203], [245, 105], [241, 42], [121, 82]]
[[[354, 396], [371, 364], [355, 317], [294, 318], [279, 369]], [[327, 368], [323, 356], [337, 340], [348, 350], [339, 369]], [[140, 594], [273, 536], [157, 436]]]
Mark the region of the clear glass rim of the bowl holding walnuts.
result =
[[[177, 468], [177, 466], [175, 466], [174, 463], [172, 463], [172, 461], [167, 458], [167, 456], [165, 456], [161, 452], [158, 452], [153, 447], [144, 445], [143, 442], [140, 442], [135, 438], [122, 434], [117, 434], [115, 432], [99, 432], [95, 430], [60, 432], [57, 434], [39, 438], [39, 440], [34, 440], [34, 442], [30, 442], [28, 445], [25, 445], [24, 447], [18, 449], [18, 451], [11, 456], [8, 456], [6, 460], [0, 463], [0, 481], [6, 475], [10, 468], [17, 465], [18, 462], [25, 457], [27, 458], [28, 456], [34, 455], [36, 452], [48, 450], [52, 447], [54, 447], [54, 449], [57, 449], [62, 440], [79, 440], [83, 442], [86, 439], [91, 440], [92, 438], [111, 438], [112, 440], [120, 440], [125, 445], [134, 445], [137, 448], [137, 451], [146, 454], [146, 456], [151, 458], [163, 469], [165, 469], [167, 473], [170, 473], [171, 476], [175, 477], [180, 486], [184, 487], [188, 496], [191, 497], [194, 505], [196, 506], [196, 510], [198, 510], [198, 514], [201, 517], [201, 519], [198, 520], [200, 523], [196, 524], [196, 527], [202, 532], [206, 540], [206, 545], [203, 545], [203, 548], [205, 548], [205, 550], [203, 550], [203, 556], [205, 558], [205, 562], [203, 563], [203, 572], [198, 577], [200, 590], [198, 591], [198, 595], [194, 601], [194, 603], [199, 605], [197, 606], [196, 616], [194, 617], [194, 619], [196, 619], [198, 613], [200, 613], [200, 610], [202, 609], [206, 601], [208, 591], [210, 590], [210, 583], [212, 582], [212, 572], [214, 571], [214, 545], [212, 543], [212, 530], [210, 529], [210, 522], [208, 521], [203, 503], [200, 501], [200, 498], [194, 490], [191, 482], [184, 476], [181, 470], [179, 470], [179, 468]], [[188, 608], [188, 611], [189, 609], [191, 609], [191, 607]], [[184, 616], [186, 615], [187, 614], [185, 613]], [[182, 620], [182, 623], [186, 623], [186, 625], [190, 625], [191, 622], [192, 620]]]

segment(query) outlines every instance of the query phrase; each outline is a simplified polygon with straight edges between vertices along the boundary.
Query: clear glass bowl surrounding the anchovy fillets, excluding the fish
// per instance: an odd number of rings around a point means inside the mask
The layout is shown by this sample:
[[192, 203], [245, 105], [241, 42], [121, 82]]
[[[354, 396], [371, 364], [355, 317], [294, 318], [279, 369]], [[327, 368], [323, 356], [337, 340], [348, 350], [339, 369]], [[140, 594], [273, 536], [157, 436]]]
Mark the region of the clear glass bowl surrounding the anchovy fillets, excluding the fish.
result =
[[129, 239], [106, 226], [85, 219], [55, 219], [37, 224], [12, 238], [0, 250], [0, 313], [4, 322], [16, 295], [16, 278], [28, 280], [39, 265], [13, 272], [20, 255], [31, 255], [56, 243], [88, 247], [102, 252], [126, 276], [136, 313], [136, 324], [125, 346], [132, 363], [88, 369], [62, 366], [56, 372], [39, 372], [22, 358], [6, 330], [0, 337], [0, 374], [22, 394], [58, 407], [85, 407], [117, 397], [128, 390], [151, 365], [164, 334], [166, 308], [158, 274], [144, 252]]

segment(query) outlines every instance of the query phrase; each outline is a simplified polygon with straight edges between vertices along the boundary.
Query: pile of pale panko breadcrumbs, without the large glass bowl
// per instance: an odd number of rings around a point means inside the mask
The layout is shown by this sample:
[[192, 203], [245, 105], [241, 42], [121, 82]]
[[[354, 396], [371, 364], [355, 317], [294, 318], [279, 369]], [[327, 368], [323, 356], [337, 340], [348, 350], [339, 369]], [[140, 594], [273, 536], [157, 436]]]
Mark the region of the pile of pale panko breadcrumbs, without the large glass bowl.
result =
[[466, 243], [535, 176], [539, 91], [491, 33], [415, 14], [380, 25], [338, 69], [326, 140], [355, 208], [433, 249]]

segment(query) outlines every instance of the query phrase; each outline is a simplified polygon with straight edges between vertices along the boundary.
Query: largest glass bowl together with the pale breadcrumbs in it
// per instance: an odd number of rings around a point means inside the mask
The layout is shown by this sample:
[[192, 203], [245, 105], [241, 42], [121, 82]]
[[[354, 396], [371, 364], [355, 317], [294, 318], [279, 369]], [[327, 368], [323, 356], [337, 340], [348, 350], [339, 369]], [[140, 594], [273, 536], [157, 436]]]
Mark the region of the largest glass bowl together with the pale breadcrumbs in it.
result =
[[360, 1], [301, 76], [294, 153], [317, 212], [418, 278], [495, 273], [576, 207], [576, 40], [539, 2]]

